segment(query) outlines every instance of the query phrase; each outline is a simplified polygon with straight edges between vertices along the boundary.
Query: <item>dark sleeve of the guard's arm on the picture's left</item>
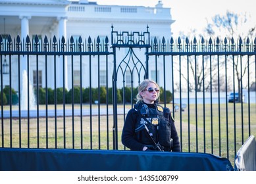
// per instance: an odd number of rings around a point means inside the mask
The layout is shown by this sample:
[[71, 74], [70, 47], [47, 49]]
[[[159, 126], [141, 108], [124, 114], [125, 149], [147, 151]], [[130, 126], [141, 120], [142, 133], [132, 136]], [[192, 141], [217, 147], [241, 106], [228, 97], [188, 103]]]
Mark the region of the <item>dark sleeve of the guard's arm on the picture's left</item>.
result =
[[138, 142], [135, 134], [135, 125], [137, 121], [137, 112], [132, 108], [129, 110], [124, 127], [122, 129], [122, 144], [131, 150], [142, 150], [144, 145]]

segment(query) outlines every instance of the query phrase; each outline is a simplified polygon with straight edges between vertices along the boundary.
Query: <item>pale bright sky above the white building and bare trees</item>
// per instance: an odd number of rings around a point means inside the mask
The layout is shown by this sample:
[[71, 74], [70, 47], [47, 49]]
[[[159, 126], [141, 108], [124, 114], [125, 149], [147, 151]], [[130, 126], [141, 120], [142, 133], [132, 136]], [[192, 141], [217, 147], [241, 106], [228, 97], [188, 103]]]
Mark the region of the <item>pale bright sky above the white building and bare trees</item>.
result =
[[[99, 5], [134, 5], [155, 7], [159, 0], [89, 0]], [[255, 0], [163, 0], [164, 7], [171, 8], [172, 32], [177, 36], [180, 31], [196, 29], [201, 31], [216, 14], [225, 14], [227, 10], [241, 13], [248, 12], [256, 24]]]

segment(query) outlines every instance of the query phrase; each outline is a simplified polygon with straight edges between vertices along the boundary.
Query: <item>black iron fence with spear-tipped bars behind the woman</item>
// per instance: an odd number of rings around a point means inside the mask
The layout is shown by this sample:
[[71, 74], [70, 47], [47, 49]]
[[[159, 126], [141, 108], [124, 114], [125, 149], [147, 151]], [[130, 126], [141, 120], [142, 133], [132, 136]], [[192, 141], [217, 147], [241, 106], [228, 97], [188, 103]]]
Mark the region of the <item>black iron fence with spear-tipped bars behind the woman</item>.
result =
[[234, 158], [256, 134], [256, 39], [112, 30], [111, 41], [0, 35], [0, 43], [1, 147], [126, 149], [122, 126], [144, 78], [161, 86], [182, 151]]

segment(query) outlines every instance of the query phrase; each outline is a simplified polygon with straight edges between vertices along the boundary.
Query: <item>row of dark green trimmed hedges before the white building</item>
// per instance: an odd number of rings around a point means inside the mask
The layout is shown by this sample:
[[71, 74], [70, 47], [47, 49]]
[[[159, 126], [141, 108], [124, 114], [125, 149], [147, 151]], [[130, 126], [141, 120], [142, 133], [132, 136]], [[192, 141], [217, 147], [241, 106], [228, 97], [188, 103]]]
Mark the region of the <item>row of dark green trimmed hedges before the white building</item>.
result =
[[[7, 86], [5, 89], [3, 89], [3, 105], [9, 104], [9, 90], [10, 88]], [[108, 99], [107, 99], [107, 89], [106, 87], [100, 87], [98, 88], [92, 88], [91, 89], [88, 87], [86, 89], [82, 88], [82, 103], [102, 103], [105, 104], [113, 104], [113, 94], [112, 94], [112, 87], [108, 89]], [[18, 95], [14, 91], [12, 91], [12, 104], [18, 104]], [[48, 88], [48, 96], [47, 96], [47, 103], [48, 104], [54, 104], [55, 101], [57, 104], [63, 104], [63, 87], [59, 87], [55, 90]], [[164, 93], [163, 93], [163, 88], [161, 87], [160, 89], [160, 102], [163, 103], [164, 99]], [[36, 90], [34, 91], [35, 94]], [[55, 92], [56, 92], [56, 99], [55, 99]], [[74, 87], [74, 103], [79, 104], [80, 103], [80, 87]], [[98, 93], [99, 93], [99, 99], [98, 99]], [[136, 95], [138, 93], [138, 87], [134, 88], [134, 90], [131, 90], [131, 87], [124, 87], [122, 89], [117, 89], [117, 103], [136, 103]], [[91, 97], [90, 97], [91, 94]], [[38, 100], [39, 104], [45, 104], [45, 98], [46, 98], [46, 89], [45, 88], [39, 88], [39, 93], [38, 93]], [[36, 97], [37, 99], [37, 97]], [[172, 93], [170, 91], [166, 91], [166, 102], [170, 103], [172, 101]], [[2, 103], [1, 100], [1, 95], [0, 95], [0, 103]], [[65, 103], [70, 104], [72, 103], [72, 89], [69, 91], [65, 89]]]

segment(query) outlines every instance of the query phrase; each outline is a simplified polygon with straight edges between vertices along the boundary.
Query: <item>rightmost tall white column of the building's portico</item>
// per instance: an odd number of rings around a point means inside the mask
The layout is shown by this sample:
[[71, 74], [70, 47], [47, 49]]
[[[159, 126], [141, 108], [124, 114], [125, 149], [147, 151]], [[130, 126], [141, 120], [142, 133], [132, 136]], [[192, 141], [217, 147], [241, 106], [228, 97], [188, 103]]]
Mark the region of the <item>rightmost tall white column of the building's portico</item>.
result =
[[[66, 40], [66, 17], [58, 17], [59, 21], [59, 39], [61, 40], [64, 37]], [[65, 80], [65, 88], [68, 89], [68, 62], [67, 58], [64, 57], [64, 80]], [[57, 87], [63, 87], [63, 57], [59, 58], [59, 62], [57, 62]]]

